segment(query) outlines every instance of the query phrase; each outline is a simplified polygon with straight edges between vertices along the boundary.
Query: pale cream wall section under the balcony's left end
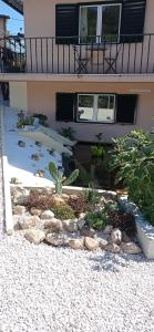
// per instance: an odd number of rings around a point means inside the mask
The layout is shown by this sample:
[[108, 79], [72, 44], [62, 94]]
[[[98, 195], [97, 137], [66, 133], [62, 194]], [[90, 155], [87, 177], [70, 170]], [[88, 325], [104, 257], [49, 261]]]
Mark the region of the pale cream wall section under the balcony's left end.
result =
[[25, 82], [10, 82], [10, 106], [28, 111], [28, 96]]

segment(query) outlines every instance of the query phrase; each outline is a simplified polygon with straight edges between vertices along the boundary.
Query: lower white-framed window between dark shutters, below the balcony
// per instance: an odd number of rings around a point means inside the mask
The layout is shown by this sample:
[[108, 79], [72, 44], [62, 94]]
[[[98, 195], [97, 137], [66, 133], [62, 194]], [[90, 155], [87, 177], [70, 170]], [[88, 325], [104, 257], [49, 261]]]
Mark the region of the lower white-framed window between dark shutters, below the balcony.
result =
[[79, 94], [76, 121], [114, 123], [115, 95]]

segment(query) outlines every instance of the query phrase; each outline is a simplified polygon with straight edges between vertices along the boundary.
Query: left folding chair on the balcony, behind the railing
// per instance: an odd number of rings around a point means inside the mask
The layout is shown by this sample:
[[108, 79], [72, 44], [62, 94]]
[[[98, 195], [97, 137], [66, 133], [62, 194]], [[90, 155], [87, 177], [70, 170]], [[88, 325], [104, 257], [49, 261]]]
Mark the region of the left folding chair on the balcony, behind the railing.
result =
[[74, 73], [78, 75], [88, 74], [89, 58], [86, 56], [86, 54], [82, 54], [82, 45], [73, 45], [73, 51], [75, 61]]

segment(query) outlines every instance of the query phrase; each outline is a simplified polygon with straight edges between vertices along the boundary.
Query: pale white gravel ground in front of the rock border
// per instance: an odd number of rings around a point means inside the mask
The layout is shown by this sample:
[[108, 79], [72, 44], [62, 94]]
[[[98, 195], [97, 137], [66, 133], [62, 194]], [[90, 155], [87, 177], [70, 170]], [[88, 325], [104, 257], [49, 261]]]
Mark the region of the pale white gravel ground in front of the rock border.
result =
[[154, 331], [154, 262], [0, 242], [0, 332]]

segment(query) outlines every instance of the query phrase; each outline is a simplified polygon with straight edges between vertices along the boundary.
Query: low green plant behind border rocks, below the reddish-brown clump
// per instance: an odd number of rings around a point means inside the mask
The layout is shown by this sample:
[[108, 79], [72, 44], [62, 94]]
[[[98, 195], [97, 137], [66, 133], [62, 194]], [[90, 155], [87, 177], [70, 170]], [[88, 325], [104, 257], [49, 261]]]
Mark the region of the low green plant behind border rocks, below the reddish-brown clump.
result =
[[85, 220], [90, 228], [103, 230], [109, 222], [109, 217], [104, 211], [88, 212]]

